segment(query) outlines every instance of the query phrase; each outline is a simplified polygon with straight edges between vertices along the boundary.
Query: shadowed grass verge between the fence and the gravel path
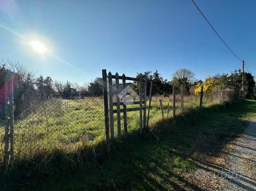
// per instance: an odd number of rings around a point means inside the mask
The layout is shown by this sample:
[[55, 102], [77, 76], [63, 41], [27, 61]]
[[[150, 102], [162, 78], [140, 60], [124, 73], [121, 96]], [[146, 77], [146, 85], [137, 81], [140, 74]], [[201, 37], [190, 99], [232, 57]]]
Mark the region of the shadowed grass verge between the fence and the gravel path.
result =
[[130, 136], [112, 143], [110, 157], [96, 152], [95, 159], [82, 162], [63, 153], [45, 164], [16, 166], [1, 174], [0, 190], [200, 190], [184, 179], [197, 168], [190, 159], [217, 153], [244, 131], [255, 113], [253, 100], [193, 109], [156, 123], [143, 139]]

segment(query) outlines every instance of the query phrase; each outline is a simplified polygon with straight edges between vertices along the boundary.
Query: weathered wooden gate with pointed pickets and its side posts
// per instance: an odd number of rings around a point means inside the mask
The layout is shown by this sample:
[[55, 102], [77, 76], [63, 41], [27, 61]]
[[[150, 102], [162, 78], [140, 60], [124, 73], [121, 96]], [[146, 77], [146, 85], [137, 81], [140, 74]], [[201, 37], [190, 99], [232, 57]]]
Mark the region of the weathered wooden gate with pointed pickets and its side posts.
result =
[[[107, 83], [108, 78], [108, 83]], [[116, 102], [113, 102], [113, 95], [112, 95], [112, 79], [116, 80]], [[123, 101], [120, 102], [119, 96], [120, 87], [119, 87], [119, 80], [122, 80], [123, 89], [126, 88], [126, 80], [132, 81], [139, 81], [139, 97], [140, 101], [135, 102], [127, 102], [124, 104], [126, 100], [126, 95], [123, 96]], [[109, 93], [107, 93], [107, 84]], [[146, 84], [146, 85], [145, 85]], [[102, 70], [102, 86], [103, 86], [103, 98], [104, 98], [104, 112], [105, 112], [105, 133], [107, 143], [109, 144], [110, 139], [114, 139], [114, 113], [117, 114], [117, 138], [121, 140], [121, 117], [120, 113], [123, 112], [123, 127], [124, 127], [124, 138], [127, 136], [127, 112], [128, 111], [140, 111], [140, 136], [143, 133], [143, 129], [146, 129], [148, 126], [149, 121], [149, 111], [148, 111], [148, 118], [146, 120], [146, 111], [147, 111], [147, 76], [145, 77], [144, 81], [144, 100], [142, 100], [142, 76], [137, 79], [135, 77], [126, 77], [125, 74], [119, 76], [118, 73], [116, 75], [112, 75], [111, 72], [107, 75], [107, 70]], [[152, 83], [151, 83], [152, 88]], [[150, 96], [149, 96], [149, 103], [151, 102], [151, 88], [150, 88]], [[109, 100], [109, 103], [108, 103]], [[144, 102], [144, 107], [142, 106], [142, 102]], [[137, 105], [139, 104], [140, 107], [135, 108], [126, 108], [127, 105]], [[123, 105], [123, 109], [120, 109], [120, 105]], [[113, 109], [113, 106], [116, 106], [116, 109]], [[143, 110], [143, 116], [142, 116]], [[142, 120], [143, 117], [143, 120]], [[147, 123], [146, 123], [147, 121]], [[109, 128], [110, 127], [110, 128]], [[109, 129], [110, 129], [110, 137], [109, 137]]]

